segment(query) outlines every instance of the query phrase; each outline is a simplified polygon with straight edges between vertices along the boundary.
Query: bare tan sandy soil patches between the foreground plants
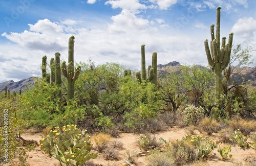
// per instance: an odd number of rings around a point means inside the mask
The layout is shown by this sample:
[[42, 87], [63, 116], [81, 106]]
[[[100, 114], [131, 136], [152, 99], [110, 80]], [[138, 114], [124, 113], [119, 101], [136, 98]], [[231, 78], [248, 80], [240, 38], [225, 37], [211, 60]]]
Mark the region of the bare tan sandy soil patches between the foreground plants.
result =
[[[196, 134], [199, 134], [196, 133]], [[33, 139], [39, 140], [41, 139], [41, 132], [35, 132], [34, 130], [29, 130], [26, 132], [26, 134], [22, 135], [24, 139]], [[164, 132], [159, 132], [156, 133], [156, 137], [162, 137], [165, 140], [170, 140], [170, 139], [180, 139], [183, 136], [186, 135], [185, 129], [180, 129], [180, 128], [169, 128]], [[211, 136], [212, 139], [216, 139], [214, 135]], [[133, 133], [120, 133], [119, 138], [113, 138], [113, 139], [118, 139], [123, 143], [123, 149], [119, 150], [119, 158], [120, 160], [118, 161], [106, 161], [104, 160], [103, 156], [99, 156], [96, 159], [92, 159], [94, 164], [98, 165], [122, 165], [124, 162], [123, 158], [123, 153], [126, 150], [135, 150], [136, 152], [140, 153], [142, 152], [138, 145], [137, 145], [137, 139], [138, 139], [138, 134], [133, 134]], [[242, 149], [240, 147], [231, 147], [231, 152], [229, 154], [232, 154], [233, 160], [226, 160], [226, 161], [220, 161], [219, 153], [217, 152], [218, 148], [216, 148], [214, 151], [212, 151], [210, 157], [208, 158], [208, 163], [210, 165], [216, 165], [216, 166], [223, 166], [223, 165], [236, 165], [236, 163], [247, 163], [250, 158], [256, 157], [256, 152], [253, 149]], [[27, 159], [28, 163], [33, 166], [55, 166], [55, 165], [60, 165], [59, 161], [51, 156], [49, 154], [44, 153], [43, 151], [40, 150], [40, 147], [36, 147], [33, 151], [27, 152], [29, 155], [29, 158]], [[145, 163], [145, 157], [139, 157], [138, 159], [139, 165], [146, 165]]]

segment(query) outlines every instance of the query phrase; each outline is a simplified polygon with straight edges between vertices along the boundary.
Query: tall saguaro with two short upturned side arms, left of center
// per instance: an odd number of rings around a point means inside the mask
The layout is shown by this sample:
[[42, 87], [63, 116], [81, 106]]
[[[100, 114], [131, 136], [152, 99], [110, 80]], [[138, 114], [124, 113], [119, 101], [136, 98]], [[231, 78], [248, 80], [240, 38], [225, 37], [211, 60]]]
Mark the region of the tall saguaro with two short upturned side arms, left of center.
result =
[[77, 80], [81, 66], [77, 66], [74, 71], [74, 42], [75, 37], [71, 36], [69, 38], [69, 61], [68, 65], [66, 65], [66, 61], [63, 61], [61, 64], [61, 71], [63, 76], [68, 79], [68, 99], [72, 99], [74, 97], [75, 92], [75, 81]]

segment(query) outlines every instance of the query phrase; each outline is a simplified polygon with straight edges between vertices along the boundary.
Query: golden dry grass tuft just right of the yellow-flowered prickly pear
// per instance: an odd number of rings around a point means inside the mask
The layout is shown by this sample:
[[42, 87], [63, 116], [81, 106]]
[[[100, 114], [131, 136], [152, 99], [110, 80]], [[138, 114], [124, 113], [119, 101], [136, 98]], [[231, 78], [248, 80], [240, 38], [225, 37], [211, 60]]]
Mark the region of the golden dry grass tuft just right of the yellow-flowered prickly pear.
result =
[[94, 150], [102, 153], [111, 143], [111, 135], [104, 133], [97, 133], [92, 136], [92, 140], [94, 141]]

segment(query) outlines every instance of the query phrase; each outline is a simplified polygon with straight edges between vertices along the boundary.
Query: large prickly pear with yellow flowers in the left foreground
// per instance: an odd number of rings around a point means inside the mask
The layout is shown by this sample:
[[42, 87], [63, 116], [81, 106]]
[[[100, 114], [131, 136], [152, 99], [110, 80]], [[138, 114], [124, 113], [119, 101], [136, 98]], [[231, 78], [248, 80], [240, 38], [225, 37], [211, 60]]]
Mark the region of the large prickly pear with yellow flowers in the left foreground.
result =
[[40, 140], [41, 149], [66, 165], [82, 165], [95, 159], [98, 154], [91, 153], [92, 143], [87, 130], [80, 130], [76, 125], [55, 127]]

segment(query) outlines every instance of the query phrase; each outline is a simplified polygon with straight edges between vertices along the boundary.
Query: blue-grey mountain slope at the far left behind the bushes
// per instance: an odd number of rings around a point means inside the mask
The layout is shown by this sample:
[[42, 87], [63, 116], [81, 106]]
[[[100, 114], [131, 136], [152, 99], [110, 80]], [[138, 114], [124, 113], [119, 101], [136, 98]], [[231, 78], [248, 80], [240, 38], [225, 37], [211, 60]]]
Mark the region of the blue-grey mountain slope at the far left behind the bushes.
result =
[[13, 80], [2, 82], [0, 83], [0, 91], [5, 92], [5, 86], [7, 86], [7, 89], [10, 88], [11, 93], [13, 91], [16, 91], [18, 93], [19, 89], [22, 89], [22, 92], [24, 92], [27, 88], [34, 85], [36, 79], [37, 77], [30, 77], [28, 79], [22, 79], [17, 82], [14, 82]]

